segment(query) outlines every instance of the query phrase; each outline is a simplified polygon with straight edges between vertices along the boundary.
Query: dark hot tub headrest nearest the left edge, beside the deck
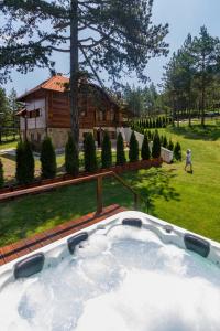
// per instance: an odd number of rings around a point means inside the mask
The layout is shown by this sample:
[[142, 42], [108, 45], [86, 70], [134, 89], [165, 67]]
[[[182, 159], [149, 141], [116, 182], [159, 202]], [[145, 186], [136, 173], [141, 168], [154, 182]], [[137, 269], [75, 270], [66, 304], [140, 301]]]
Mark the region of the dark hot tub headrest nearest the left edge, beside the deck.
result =
[[44, 260], [43, 253], [37, 253], [20, 260], [14, 266], [14, 278], [26, 278], [40, 273], [43, 269]]

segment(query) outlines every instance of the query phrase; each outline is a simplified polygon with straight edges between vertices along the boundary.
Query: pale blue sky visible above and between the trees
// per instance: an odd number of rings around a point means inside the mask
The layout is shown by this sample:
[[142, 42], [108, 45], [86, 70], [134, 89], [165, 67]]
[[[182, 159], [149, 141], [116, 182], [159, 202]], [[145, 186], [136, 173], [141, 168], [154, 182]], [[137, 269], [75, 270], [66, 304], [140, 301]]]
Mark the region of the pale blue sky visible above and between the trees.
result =
[[[191, 33], [193, 36], [198, 35], [200, 26], [202, 25], [208, 28], [212, 36], [220, 38], [219, 14], [220, 0], [154, 0], [153, 22], [156, 24], [169, 24], [169, 34], [166, 38], [166, 42], [169, 44], [168, 57], [183, 45], [188, 33]], [[164, 71], [163, 67], [168, 62], [168, 57], [154, 58], [147, 64], [146, 74], [155, 84], [161, 83]], [[67, 55], [56, 53], [54, 60], [56, 62], [56, 71], [68, 74], [69, 61]], [[6, 88], [7, 93], [14, 87], [18, 95], [21, 95], [25, 90], [47, 79], [48, 76], [50, 73], [47, 70], [36, 68], [26, 75], [14, 71], [12, 82], [9, 82], [2, 87]], [[107, 82], [105, 73], [100, 75], [100, 77], [105, 83]], [[135, 78], [132, 81], [129, 79], [129, 83], [138, 85]]]

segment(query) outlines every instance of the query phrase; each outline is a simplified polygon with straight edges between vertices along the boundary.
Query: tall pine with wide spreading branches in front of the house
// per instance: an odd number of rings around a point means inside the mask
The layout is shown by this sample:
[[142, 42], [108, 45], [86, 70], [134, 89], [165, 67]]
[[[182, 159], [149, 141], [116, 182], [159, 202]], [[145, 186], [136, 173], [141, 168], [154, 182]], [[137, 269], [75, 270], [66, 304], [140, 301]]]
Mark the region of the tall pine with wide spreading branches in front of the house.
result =
[[150, 57], [167, 54], [168, 29], [152, 24], [152, 7], [153, 0], [1, 0], [0, 35], [7, 38], [0, 81], [6, 82], [15, 66], [22, 73], [35, 66], [55, 71], [52, 53], [69, 54], [72, 131], [78, 145], [80, 70], [89, 67], [99, 79], [102, 67], [116, 82], [128, 68], [144, 82]]

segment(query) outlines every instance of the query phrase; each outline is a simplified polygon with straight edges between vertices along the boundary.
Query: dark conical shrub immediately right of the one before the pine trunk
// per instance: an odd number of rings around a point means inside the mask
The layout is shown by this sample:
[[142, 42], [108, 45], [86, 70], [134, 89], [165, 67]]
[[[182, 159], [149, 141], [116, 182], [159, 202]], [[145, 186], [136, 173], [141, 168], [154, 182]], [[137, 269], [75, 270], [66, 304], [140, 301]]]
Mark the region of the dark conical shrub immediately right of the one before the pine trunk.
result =
[[85, 170], [87, 172], [96, 172], [98, 169], [97, 166], [97, 156], [96, 156], [96, 145], [92, 134], [87, 134], [84, 141], [84, 161]]

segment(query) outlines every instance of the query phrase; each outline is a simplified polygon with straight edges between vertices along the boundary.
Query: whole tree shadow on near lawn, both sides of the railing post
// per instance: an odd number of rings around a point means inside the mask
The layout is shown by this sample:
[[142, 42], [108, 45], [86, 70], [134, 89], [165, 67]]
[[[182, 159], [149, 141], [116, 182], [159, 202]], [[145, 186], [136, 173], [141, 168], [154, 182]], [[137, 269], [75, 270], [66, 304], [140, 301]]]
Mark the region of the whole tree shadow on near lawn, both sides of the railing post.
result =
[[[128, 184], [148, 201], [148, 212], [156, 215], [156, 199], [179, 200], [172, 186], [175, 173], [164, 169], [141, 170], [123, 174]], [[103, 205], [134, 207], [133, 194], [113, 179], [103, 181]], [[0, 204], [0, 246], [52, 228], [96, 211], [96, 182], [58, 189]], [[140, 210], [147, 212], [146, 204]]]

